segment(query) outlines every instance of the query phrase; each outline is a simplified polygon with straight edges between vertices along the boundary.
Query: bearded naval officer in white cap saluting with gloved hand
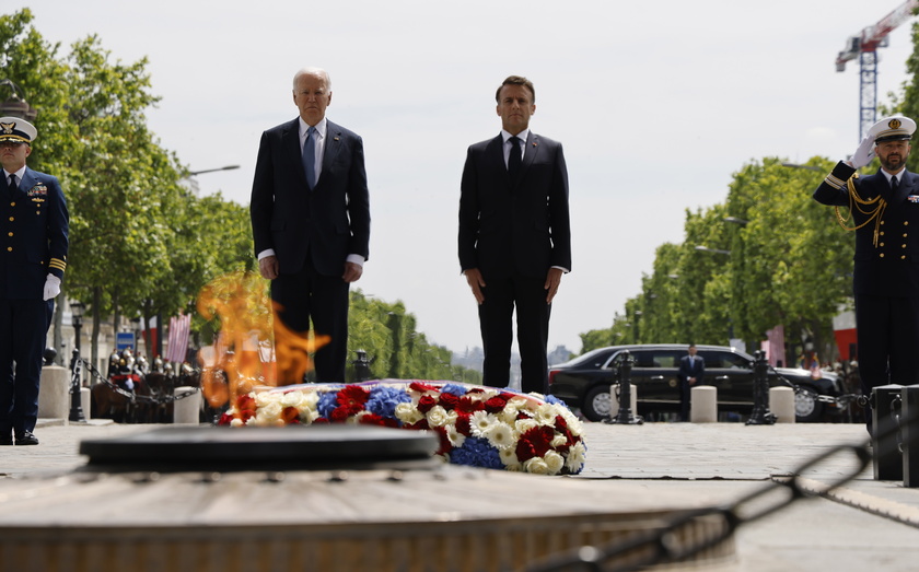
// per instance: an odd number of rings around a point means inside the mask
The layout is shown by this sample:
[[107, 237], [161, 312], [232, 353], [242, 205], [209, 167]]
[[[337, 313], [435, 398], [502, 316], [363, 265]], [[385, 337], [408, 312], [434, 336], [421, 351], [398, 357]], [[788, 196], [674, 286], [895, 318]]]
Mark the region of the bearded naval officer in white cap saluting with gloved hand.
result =
[[[919, 176], [906, 171], [916, 121], [887, 117], [874, 124], [848, 162], [840, 161], [814, 191], [837, 207], [856, 231], [856, 328], [865, 396], [879, 385], [919, 383]], [[874, 155], [881, 168], [859, 177]], [[848, 207], [844, 218], [839, 207]], [[868, 416], [869, 430], [871, 416]]]

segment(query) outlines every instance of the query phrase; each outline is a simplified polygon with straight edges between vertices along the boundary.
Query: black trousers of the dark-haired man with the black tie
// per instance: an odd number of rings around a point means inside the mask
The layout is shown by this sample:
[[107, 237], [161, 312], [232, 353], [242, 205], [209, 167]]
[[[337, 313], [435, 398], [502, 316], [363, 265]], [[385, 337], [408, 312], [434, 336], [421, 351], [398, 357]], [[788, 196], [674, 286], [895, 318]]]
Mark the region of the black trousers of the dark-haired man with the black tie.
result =
[[479, 305], [485, 349], [482, 383], [491, 387], [507, 387], [510, 383], [512, 318], [516, 308], [521, 388], [526, 393], [548, 393], [546, 345], [551, 305], [546, 304], [545, 278], [485, 276], [484, 279], [485, 302]]

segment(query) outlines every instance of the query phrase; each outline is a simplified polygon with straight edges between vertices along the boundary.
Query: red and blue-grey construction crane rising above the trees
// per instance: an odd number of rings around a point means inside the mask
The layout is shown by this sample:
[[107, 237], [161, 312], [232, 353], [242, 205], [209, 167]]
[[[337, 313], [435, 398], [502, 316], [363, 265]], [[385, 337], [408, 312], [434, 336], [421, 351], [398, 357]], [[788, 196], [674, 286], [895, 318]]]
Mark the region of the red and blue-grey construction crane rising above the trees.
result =
[[873, 26], [847, 39], [846, 49], [836, 57], [836, 71], [845, 71], [846, 62], [856, 58], [859, 58], [861, 65], [859, 141], [874, 125], [877, 112], [877, 48], [887, 47], [887, 34], [909, 20], [917, 7], [919, 0], [904, 2]]

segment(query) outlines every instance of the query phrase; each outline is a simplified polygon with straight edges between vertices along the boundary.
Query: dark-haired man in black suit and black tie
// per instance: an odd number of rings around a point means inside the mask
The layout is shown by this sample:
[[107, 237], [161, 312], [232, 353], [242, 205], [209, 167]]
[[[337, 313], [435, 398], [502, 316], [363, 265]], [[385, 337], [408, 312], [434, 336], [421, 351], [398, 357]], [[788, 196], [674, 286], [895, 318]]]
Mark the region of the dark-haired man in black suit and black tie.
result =
[[469, 147], [460, 196], [460, 265], [478, 302], [484, 382], [510, 381], [516, 308], [522, 389], [548, 392], [551, 301], [571, 270], [561, 143], [530, 131], [536, 92], [511, 75], [496, 94], [502, 131]]

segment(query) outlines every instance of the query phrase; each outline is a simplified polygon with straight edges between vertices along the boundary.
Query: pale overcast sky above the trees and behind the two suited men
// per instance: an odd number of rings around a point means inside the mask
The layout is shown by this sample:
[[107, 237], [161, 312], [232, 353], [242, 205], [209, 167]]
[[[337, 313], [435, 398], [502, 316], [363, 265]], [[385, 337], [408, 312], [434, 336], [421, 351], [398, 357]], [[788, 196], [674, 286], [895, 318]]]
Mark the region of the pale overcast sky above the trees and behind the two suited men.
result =
[[[859, 68], [846, 38], [901, 0], [484, 0], [196, 2], [31, 0], [62, 50], [97, 34], [113, 60], [150, 60], [149, 113], [202, 194], [248, 205], [263, 130], [296, 116], [293, 73], [326, 68], [329, 119], [364, 138], [370, 260], [357, 287], [402, 300], [431, 341], [480, 345], [456, 256], [466, 148], [498, 135], [495, 90], [536, 85], [531, 128], [565, 145], [573, 268], [549, 349], [609, 327], [683, 241], [687, 209], [722, 202], [752, 160], [841, 159], [858, 144]], [[21, 4], [7, 2], [4, 13]], [[879, 101], [899, 91], [911, 21], [880, 50]], [[812, 189], [801, 189], [810, 194]], [[66, 189], [65, 189], [66, 191]], [[155, 189], [153, 189], [155, 191]], [[827, 224], [831, 224], [827, 213]], [[726, 342], [726, 340], [725, 340]]]

